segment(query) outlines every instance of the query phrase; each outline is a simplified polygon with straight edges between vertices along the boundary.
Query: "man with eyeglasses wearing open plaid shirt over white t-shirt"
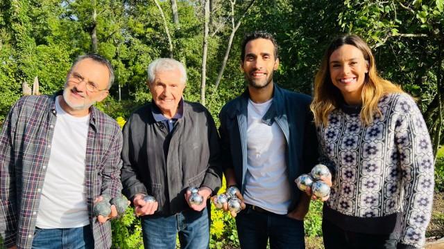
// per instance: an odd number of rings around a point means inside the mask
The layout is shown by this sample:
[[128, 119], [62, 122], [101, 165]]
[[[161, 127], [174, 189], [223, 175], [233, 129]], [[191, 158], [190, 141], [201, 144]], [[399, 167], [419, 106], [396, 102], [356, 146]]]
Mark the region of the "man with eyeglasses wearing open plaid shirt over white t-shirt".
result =
[[[122, 136], [93, 107], [108, 95], [108, 60], [83, 55], [62, 95], [26, 96], [0, 133], [0, 235], [6, 248], [110, 248], [117, 216], [94, 216], [94, 202], [121, 192]], [[0, 245], [1, 246], [1, 245]]]

